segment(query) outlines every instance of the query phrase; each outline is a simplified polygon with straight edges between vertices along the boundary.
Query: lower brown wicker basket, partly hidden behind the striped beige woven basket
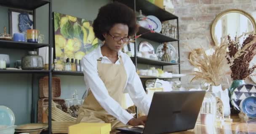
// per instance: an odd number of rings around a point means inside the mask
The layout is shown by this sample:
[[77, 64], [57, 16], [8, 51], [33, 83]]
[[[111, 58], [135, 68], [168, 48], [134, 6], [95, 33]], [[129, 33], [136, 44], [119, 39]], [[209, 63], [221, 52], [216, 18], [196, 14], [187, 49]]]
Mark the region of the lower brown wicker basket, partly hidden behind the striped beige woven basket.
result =
[[[65, 101], [63, 99], [53, 99], [53, 102], [61, 105]], [[37, 111], [37, 122], [38, 123], [48, 123], [48, 98], [39, 99], [38, 101], [38, 111]]]

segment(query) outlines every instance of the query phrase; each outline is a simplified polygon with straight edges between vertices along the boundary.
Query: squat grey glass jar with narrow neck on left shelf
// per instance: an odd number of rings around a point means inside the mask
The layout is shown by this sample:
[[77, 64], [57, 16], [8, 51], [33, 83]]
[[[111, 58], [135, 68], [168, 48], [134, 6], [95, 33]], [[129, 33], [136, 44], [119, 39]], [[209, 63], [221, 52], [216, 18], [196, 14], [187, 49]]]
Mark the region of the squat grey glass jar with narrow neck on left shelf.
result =
[[37, 55], [36, 51], [29, 51], [28, 55], [21, 59], [23, 70], [42, 70], [43, 67], [43, 57]]

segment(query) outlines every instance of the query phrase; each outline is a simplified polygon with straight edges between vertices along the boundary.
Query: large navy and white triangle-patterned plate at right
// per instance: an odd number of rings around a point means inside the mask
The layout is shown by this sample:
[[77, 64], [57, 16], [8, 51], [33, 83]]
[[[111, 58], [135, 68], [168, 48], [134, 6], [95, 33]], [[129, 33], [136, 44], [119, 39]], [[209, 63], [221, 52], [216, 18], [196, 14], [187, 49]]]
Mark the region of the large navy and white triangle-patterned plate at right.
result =
[[252, 84], [244, 84], [239, 86], [234, 90], [234, 92], [231, 95], [231, 104], [232, 106], [240, 112], [240, 102], [250, 96], [256, 96], [256, 85]]

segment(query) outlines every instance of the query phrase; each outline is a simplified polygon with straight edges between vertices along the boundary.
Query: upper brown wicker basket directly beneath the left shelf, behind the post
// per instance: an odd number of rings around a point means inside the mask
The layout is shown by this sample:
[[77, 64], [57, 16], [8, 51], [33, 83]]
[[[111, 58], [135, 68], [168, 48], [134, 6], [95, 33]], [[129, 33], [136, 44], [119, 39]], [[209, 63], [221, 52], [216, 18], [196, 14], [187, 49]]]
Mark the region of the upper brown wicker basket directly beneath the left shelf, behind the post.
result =
[[[41, 78], [39, 81], [40, 98], [49, 98], [48, 86], [48, 76]], [[61, 96], [61, 80], [58, 77], [52, 77], [51, 94], [53, 98]]]

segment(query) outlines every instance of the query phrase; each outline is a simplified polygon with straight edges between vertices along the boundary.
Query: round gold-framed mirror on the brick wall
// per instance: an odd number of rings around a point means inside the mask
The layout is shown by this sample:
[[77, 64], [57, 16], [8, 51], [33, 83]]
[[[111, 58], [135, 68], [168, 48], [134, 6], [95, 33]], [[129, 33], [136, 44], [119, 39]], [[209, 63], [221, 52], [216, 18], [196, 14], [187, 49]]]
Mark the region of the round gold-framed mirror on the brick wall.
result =
[[[256, 23], [250, 14], [243, 10], [230, 9], [215, 18], [211, 27], [211, 36], [215, 45], [219, 45], [227, 35], [234, 39], [235, 36], [255, 31]], [[243, 38], [240, 39], [240, 43], [243, 43]]]

